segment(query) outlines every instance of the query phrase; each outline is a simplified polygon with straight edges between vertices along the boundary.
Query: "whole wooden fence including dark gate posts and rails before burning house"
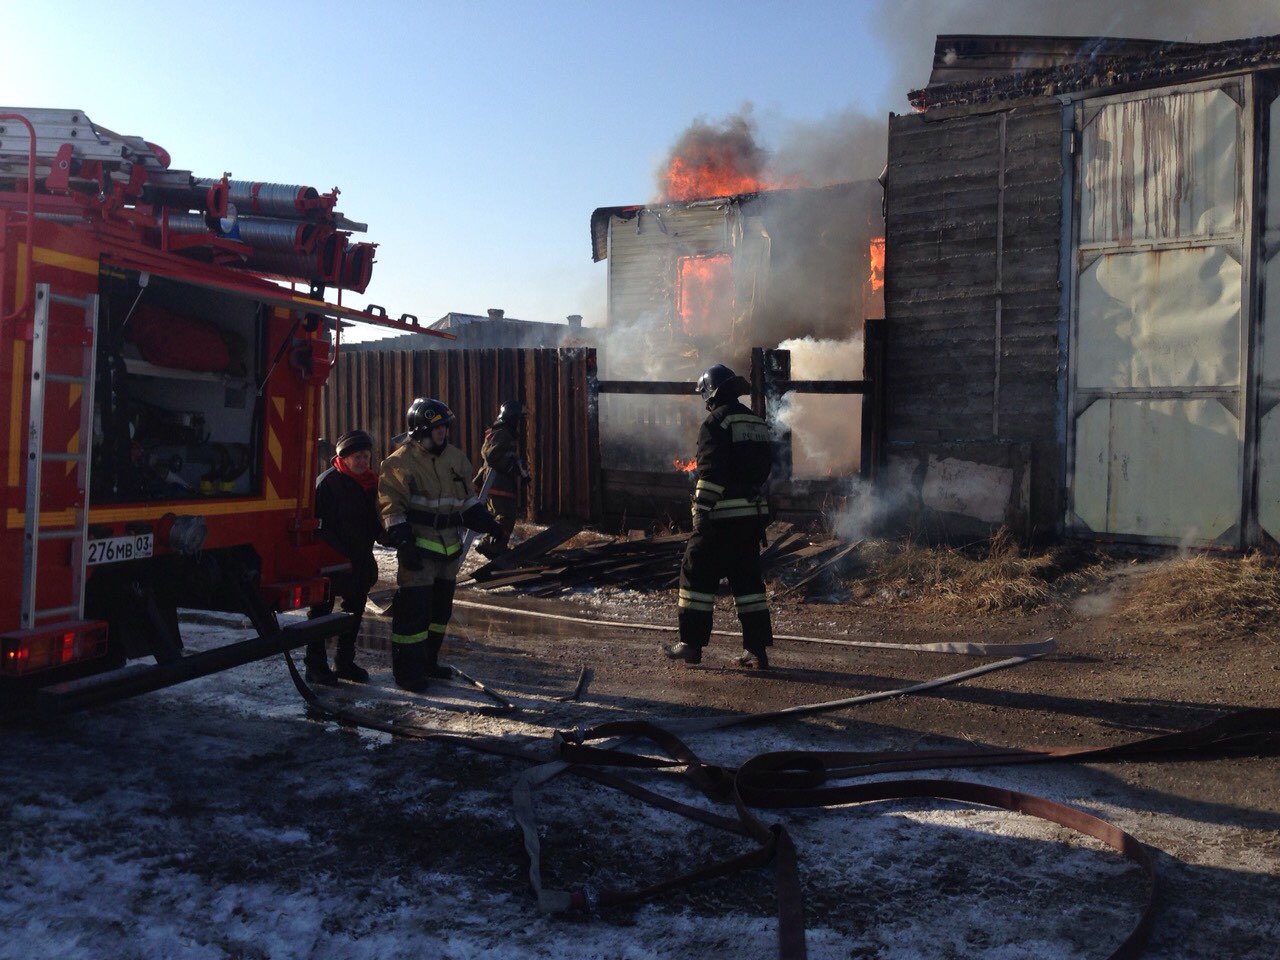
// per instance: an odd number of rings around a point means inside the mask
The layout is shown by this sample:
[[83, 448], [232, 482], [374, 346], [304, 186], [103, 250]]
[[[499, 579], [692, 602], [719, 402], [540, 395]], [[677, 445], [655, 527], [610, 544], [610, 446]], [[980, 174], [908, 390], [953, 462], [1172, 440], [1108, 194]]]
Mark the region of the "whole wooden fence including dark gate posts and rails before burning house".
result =
[[[864, 380], [792, 380], [787, 351], [753, 351], [753, 406], [763, 412], [786, 392], [861, 394], [860, 472], [874, 479], [883, 436], [882, 338], [882, 324], [868, 321]], [[435, 397], [458, 417], [453, 443], [479, 466], [485, 428], [504, 401], [518, 399], [529, 411], [525, 457], [534, 476], [526, 518], [664, 529], [687, 521], [691, 481], [675, 468], [602, 468], [599, 396], [687, 396], [692, 389], [692, 383], [685, 381], [600, 381], [595, 349], [588, 347], [349, 351], [339, 353], [325, 387], [321, 436], [332, 444], [360, 426], [374, 435], [375, 456], [385, 456], [390, 439], [404, 430], [412, 399]], [[332, 445], [321, 449], [320, 468], [326, 466]], [[684, 458], [692, 451], [672, 451], [672, 456]], [[794, 481], [790, 466], [787, 435], [780, 444], [771, 494], [780, 516], [812, 518], [840, 495], [844, 480]]]

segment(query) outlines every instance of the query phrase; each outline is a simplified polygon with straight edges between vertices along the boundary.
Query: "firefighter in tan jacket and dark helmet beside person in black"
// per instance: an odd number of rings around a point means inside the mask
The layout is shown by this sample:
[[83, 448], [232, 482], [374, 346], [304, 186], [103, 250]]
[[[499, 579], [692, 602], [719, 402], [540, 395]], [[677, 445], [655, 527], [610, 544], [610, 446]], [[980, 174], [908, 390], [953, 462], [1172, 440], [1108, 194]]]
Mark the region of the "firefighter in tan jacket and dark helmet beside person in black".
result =
[[471, 488], [466, 454], [449, 443], [453, 411], [419, 397], [406, 420], [406, 440], [383, 461], [378, 506], [387, 526], [384, 543], [396, 548], [399, 564], [392, 673], [397, 686], [417, 692], [451, 675], [439, 655], [453, 613], [463, 529], [498, 536], [502, 527]]

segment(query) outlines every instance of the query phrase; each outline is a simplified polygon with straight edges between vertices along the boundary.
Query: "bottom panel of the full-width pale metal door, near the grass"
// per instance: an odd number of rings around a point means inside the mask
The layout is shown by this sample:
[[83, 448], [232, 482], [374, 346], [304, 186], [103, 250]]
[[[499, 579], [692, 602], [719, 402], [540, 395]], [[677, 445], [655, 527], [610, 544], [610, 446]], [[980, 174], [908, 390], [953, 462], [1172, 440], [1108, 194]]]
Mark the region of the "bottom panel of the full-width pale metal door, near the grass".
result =
[[[1100, 399], [1076, 425], [1089, 529], [1212, 543], [1240, 513], [1240, 421], [1215, 399]], [[1172, 481], [1171, 481], [1172, 479]]]

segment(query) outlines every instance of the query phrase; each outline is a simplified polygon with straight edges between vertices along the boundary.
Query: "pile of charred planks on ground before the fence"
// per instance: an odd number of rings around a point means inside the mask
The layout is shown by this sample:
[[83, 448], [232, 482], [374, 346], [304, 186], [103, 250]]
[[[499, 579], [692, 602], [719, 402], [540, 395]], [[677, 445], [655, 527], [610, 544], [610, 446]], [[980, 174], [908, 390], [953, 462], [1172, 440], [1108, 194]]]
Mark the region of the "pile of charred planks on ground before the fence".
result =
[[[553, 525], [477, 567], [467, 585], [483, 590], [509, 586], [529, 596], [561, 596], [599, 586], [652, 591], [677, 585], [687, 532], [563, 547], [580, 530], [572, 524]], [[765, 539], [760, 566], [764, 579], [776, 581], [774, 596], [820, 586], [861, 543], [814, 536], [786, 521], [771, 524]]]

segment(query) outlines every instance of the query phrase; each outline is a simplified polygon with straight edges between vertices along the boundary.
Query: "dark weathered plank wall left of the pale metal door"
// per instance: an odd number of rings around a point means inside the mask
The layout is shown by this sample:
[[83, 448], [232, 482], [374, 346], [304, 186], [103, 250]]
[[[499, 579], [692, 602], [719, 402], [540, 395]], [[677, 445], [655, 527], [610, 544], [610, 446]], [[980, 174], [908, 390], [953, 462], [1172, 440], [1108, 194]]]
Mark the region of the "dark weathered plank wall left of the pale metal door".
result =
[[890, 120], [890, 483], [955, 532], [1060, 522], [1061, 177], [1053, 101]]

